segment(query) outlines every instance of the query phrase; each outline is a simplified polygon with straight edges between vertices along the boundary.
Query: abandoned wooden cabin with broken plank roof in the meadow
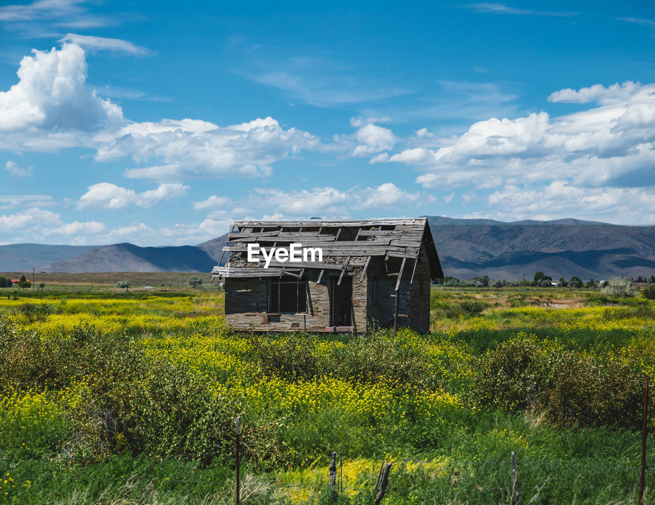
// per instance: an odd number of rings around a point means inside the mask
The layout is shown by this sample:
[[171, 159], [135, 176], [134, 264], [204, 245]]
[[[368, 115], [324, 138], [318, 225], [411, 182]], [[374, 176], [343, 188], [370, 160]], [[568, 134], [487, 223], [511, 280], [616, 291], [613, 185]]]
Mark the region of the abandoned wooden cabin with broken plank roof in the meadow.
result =
[[[268, 267], [261, 253], [248, 261], [248, 244], [265, 248]], [[320, 248], [322, 261], [270, 256], [274, 248], [288, 257], [291, 244]], [[254, 331], [367, 331], [377, 325], [426, 332], [430, 280], [443, 278], [424, 218], [236, 221], [221, 261], [212, 281], [225, 280], [225, 324]]]

